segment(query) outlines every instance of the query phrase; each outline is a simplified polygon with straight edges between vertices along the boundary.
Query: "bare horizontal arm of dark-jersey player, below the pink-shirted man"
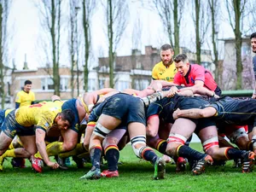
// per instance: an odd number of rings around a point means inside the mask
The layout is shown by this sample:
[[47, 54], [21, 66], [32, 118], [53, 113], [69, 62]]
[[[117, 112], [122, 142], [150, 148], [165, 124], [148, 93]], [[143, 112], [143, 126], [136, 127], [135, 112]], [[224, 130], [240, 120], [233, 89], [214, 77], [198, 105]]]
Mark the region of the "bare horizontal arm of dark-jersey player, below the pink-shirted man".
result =
[[208, 118], [212, 117], [217, 113], [215, 108], [207, 107], [207, 108], [190, 108], [180, 110], [177, 108], [175, 112], [173, 112], [173, 119], [177, 118], [191, 118], [191, 119], [200, 119], [200, 118]]

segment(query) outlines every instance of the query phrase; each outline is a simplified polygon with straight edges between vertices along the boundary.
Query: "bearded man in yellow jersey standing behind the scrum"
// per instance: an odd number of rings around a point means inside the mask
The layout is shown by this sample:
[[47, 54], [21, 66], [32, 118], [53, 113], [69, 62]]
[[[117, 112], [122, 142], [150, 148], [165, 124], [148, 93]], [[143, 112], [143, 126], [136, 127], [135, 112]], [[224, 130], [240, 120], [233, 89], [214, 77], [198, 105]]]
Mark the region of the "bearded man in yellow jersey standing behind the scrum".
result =
[[173, 55], [174, 52], [170, 44], [164, 44], [161, 46], [161, 61], [154, 66], [152, 70], [152, 79], [173, 82], [174, 76], [177, 73], [176, 67], [173, 63]]

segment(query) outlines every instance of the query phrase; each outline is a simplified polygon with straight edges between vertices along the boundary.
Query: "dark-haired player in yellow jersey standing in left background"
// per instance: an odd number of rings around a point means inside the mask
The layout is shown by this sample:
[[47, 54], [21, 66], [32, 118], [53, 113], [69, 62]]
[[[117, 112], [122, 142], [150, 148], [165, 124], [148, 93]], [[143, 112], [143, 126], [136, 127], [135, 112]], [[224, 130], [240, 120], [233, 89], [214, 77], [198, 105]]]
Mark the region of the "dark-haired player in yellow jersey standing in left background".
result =
[[23, 90], [20, 90], [15, 98], [15, 108], [20, 108], [23, 106], [29, 106], [34, 104], [35, 94], [34, 92], [32, 92], [31, 88], [32, 81], [26, 80]]

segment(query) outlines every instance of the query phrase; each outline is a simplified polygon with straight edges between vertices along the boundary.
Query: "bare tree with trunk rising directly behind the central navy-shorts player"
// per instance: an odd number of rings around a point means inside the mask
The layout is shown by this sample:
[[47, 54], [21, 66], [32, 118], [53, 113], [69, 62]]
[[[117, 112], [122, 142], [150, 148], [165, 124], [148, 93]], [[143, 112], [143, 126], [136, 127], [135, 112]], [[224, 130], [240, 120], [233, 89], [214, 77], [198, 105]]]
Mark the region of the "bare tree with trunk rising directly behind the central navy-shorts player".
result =
[[113, 88], [113, 64], [115, 61], [116, 49], [118, 48], [120, 38], [125, 27], [129, 7], [126, 0], [108, 0], [106, 9], [106, 18], [108, 25], [108, 64], [109, 64], [109, 86]]

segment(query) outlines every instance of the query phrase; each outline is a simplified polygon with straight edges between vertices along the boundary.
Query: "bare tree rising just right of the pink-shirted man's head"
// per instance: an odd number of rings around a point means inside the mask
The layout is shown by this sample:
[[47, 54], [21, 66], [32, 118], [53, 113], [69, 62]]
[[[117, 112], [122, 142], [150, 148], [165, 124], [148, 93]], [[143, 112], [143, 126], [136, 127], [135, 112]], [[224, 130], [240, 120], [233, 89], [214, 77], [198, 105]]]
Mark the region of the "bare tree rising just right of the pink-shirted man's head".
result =
[[201, 64], [201, 45], [204, 44], [207, 38], [207, 29], [210, 25], [210, 18], [207, 16], [209, 11], [207, 3], [195, 0], [193, 3], [194, 11], [192, 11], [193, 20], [195, 22], [195, 47], [196, 47], [196, 62]]

